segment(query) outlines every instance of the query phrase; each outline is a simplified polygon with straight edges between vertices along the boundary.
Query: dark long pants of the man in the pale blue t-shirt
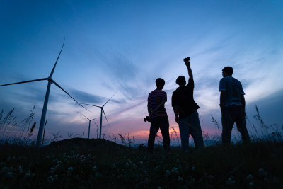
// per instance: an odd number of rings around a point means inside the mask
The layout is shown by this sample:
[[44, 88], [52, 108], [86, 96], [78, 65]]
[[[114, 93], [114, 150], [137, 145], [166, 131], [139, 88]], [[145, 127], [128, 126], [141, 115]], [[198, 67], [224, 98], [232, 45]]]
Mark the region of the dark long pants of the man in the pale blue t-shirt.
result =
[[246, 127], [245, 113], [241, 105], [229, 105], [221, 109], [222, 113], [222, 143], [231, 143], [231, 132], [236, 122], [237, 130], [241, 133], [244, 143], [250, 143], [250, 136]]

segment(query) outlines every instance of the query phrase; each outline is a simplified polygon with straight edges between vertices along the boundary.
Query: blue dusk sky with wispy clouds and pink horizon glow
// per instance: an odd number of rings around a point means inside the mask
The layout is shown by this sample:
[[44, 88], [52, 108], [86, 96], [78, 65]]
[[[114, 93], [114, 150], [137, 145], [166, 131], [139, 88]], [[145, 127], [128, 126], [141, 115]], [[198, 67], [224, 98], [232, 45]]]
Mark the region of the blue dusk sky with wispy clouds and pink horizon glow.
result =
[[[48, 77], [65, 40], [52, 79], [80, 103], [103, 105], [115, 94], [104, 107], [103, 134], [146, 142], [147, 96], [158, 77], [166, 81], [170, 127], [178, 131], [171, 96], [175, 79], [188, 79], [183, 59], [190, 57], [205, 134], [216, 133], [212, 116], [221, 123], [226, 66], [243, 84], [248, 127], [258, 124], [255, 105], [265, 124], [281, 127], [282, 9], [283, 1], [0, 1], [0, 85]], [[15, 108], [20, 122], [35, 105], [36, 137], [46, 88], [47, 81], [0, 87], [0, 110]], [[86, 137], [86, 115], [98, 118], [91, 122], [96, 138], [100, 109], [86, 108], [52, 84], [46, 135]]]

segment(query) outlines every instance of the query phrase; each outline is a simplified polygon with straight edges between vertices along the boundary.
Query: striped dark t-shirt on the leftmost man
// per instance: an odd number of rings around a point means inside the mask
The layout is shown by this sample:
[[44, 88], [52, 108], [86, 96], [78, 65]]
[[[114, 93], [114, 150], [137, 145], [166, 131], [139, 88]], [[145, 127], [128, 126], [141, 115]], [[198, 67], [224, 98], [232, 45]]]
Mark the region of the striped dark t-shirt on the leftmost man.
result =
[[[167, 101], [167, 93], [161, 89], [156, 89], [149, 93], [149, 98], [147, 98], [149, 105], [151, 105], [151, 110], [154, 110], [162, 101]], [[151, 118], [167, 116], [166, 109], [164, 105], [161, 106], [154, 114], [151, 115]]]

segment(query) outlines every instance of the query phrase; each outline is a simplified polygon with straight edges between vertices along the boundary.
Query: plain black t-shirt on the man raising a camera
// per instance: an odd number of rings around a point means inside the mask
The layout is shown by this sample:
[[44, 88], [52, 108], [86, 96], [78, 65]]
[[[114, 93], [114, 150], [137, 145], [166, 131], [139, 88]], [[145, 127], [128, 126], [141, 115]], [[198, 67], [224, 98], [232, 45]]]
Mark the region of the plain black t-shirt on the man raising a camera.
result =
[[172, 106], [178, 106], [179, 118], [185, 118], [200, 108], [194, 100], [194, 80], [189, 79], [186, 86], [179, 86], [172, 95]]

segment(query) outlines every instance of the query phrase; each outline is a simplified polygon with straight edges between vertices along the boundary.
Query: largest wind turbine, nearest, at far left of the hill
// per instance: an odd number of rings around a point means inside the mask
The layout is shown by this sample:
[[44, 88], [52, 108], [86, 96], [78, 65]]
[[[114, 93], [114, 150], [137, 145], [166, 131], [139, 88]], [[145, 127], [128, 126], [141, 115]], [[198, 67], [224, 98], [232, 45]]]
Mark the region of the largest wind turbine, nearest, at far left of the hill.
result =
[[[48, 98], [49, 98], [49, 94], [50, 94], [50, 86], [51, 84], [55, 84], [55, 86], [59, 87], [62, 91], [64, 91], [65, 93], [67, 93], [67, 91], [65, 91], [61, 86], [59, 86], [59, 84], [57, 84], [53, 79], [52, 79], [52, 75], [54, 73], [55, 67], [57, 65], [58, 59], [61, 55], [61, 52], [63, 50], [64, 47], [64, 43], [65, 40], [63, 42], [62, 48], [59, 52], [59, 55], [56, 59], [56, 62], [54, 64], [54, 67], [50, 73], [49, 77], [46, 78], [42, 78], [42, 79], [34, 79], [34, 80], [30, 80], [30, 81], [21, 81], [21, 82], [17, 82], [17, 83], [12, 83], [12, 84], [4, 84], [4, 85], [0, 85], [0, 86], [8, 86], [8, 85], [14, 85], [14, 84], [25, 84], [25, 83], [30, 83], [30, 82], [35, 82], [35, 81], [43, 81], [43, 80], [47, 80], [48, 84], [47, 84], [47, 89], [46, 89], [46, 93], [45, 93], [45, 101], [43, 104], [43, 108], [42, 108], [42, 114], [41, 114], [41, 119], [40, 119], [40, 128], [38, 130], [38, 134], [37, 134], [37, 147], [41, 147], [41, 142], [42, 142], [42, 132], [43, 132], [43, 128], [44, 128], [44, 123], [45, 123], [45, 117], [46, 117], [46, 111], [47, 111], [47, 105], [48, 105]], [[76, 99], [74, 99], [71, 95], [69, 95], [69, 93], [67, 93], [67, 95], [69, 97], [71, 97], [74, 101], [76, 101]], [[79, 105], [81, 105], [78, 101], [76, 101], [76, 103], [78, 103]], [[81, 105], [81, 107], [83, 107], [83, 105]], [[84, 107], [83, 107], [84, 108]], [[85, 108], [86, 109], [86, 108]], [[87, 109], [86, 109], [87, 110]]]

